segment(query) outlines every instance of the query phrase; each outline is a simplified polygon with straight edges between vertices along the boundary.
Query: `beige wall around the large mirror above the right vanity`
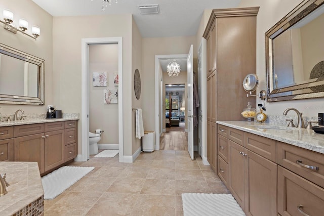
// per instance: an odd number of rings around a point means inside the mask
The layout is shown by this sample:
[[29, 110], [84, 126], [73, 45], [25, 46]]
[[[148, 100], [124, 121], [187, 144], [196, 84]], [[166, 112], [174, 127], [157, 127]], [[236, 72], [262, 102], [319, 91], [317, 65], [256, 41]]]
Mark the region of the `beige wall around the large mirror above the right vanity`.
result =
[[[286, 16], [291, 10], [293, 10], [301, 0], [286, 0], [286, 1], [259, 1], [259, 0], [242, 0], [238, 7], [254, 7], [260, 6], [260, 10], [257, 16], [257, 75], [260, 79], [257, 93], [261, 90], [265, 90], [265, 42], [264, 33], [269, 30], [274, 24], [276, 24], [282, 17]], [[257, 97], [257, 103], [261, 103], [259, 97]], [[255, 106], [256, 106], [255, 104]], [[288, 102], [274, 102], [266, 103], [267, 114], [281, 115], [288, 107], [294, 107], [300, 112], [303, 112], [303, 116], [316, 117], [317, 113], [324, 112], [323, 99], [307, 99], [296, 100]], [[290, 113], [289, 113], [290, 114]], [[292, 115], [295, 115], [292, 113]]]

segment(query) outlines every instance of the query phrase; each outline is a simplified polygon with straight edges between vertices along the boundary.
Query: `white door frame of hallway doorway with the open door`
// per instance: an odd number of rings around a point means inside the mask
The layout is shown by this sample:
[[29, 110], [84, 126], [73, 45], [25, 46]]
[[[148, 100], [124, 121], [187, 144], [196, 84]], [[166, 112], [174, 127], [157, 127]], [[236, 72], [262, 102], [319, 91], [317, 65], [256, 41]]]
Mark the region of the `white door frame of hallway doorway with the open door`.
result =
[[163, 75], [160, 73], [160, 62], [163, 59], [187, 59], [188, 54], [172, 54], [172, 55], [155, 55], [155, 150], [160, 149], [160, 136], [163, 131], [163, 119], [160, 116], [162, 112], [162, 81]]

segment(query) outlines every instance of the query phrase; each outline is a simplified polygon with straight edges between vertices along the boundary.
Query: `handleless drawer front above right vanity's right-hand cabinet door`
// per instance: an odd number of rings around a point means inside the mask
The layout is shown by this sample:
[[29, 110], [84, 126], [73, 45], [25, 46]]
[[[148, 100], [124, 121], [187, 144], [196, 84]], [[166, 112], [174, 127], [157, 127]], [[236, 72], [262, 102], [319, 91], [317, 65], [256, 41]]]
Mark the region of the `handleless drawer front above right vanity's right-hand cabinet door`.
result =
[[245, 147], [276, 162], [276, 141], [255, 134], [245, 133]]

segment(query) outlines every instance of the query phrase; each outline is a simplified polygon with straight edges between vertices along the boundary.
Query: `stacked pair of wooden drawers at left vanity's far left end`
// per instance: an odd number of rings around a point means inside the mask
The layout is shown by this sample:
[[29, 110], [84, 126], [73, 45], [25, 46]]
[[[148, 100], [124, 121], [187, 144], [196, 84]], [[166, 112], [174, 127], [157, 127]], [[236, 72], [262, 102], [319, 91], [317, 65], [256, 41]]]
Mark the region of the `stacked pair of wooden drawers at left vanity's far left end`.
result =
[[14, 160], [14, 127], [0, 127], [0, 161]]

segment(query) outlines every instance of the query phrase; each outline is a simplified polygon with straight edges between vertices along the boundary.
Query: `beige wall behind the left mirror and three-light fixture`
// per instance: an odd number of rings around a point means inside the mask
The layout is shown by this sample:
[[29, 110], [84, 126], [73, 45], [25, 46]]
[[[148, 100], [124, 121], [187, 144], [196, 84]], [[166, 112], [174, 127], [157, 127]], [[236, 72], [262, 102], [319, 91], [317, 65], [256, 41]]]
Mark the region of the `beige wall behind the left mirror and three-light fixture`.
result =
[[[31, 0], [0, 0], [0, 19], [3, 20], [3, 10], [9, 9], [14, 13], [13, 24], [18, 26], [19, 19], [25, 18], [28, 21], [28, 33], [31, 33], [31, 26], [37, 25], [41, 28], [41, 36], [34, 40], [17, 32], [11, 33], [0, 27], [0, 42], [12, 48], [21, 50], [38, 58], [45, 59], [45, 106], [42, 105], [10, 105], [1, 104], [1, 114], [13, 115], [17, 109], [23, 109], [26, 114], [46, 113], [47, 105], [53, 104], [52, 97], [52, 20], [53, 17], [43, 9], [35, 5]], [[10, 82], [10, 79], [7, 79]], [[55, 104], [54, 104], [55, 105]]]

